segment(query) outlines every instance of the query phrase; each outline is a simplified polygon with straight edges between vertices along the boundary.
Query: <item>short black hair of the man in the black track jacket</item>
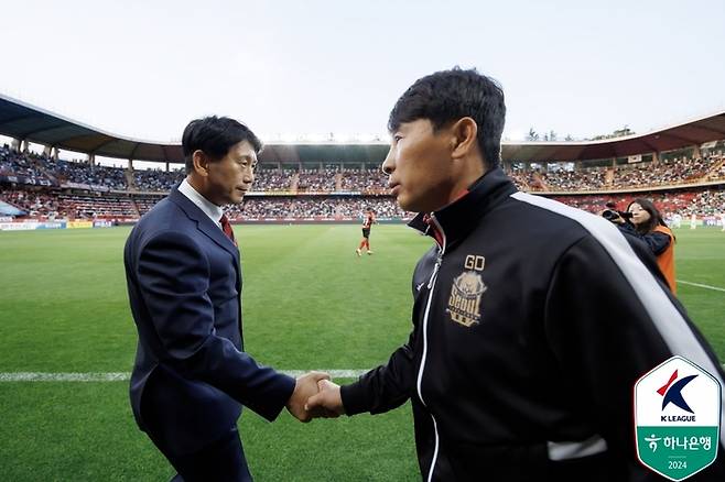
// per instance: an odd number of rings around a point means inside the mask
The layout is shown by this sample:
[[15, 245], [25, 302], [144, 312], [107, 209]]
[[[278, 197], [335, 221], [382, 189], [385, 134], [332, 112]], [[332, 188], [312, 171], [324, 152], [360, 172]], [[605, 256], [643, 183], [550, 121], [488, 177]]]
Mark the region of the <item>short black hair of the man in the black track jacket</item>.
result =
[[478, 124], [478, 147], [488, 168], [501, 162], [501, 134], [506, 122], [504, 89], [475, 68], [441, 70], [415, 80], [390, 112], [388, 130], [404, 122], [428, 119], [433, 129], [470, 117]]

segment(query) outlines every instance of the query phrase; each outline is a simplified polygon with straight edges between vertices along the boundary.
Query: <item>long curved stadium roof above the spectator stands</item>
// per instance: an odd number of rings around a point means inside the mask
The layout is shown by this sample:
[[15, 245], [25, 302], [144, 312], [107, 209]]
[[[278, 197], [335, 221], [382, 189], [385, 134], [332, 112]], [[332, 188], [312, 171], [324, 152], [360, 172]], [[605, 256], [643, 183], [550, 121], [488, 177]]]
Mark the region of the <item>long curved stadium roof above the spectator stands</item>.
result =
[[[51, 147], [99, 156], [183, 163], [180, 144], [108, 133], [0, 95], [0, 134]], [[725, 111], [645, 134], [602, 141], [504, 142], [502, 157], [515, 162], [587, 161], [664, 152], [725, 139]], [[267, 144], [262, 163], [380, 163], [385, 142]]]

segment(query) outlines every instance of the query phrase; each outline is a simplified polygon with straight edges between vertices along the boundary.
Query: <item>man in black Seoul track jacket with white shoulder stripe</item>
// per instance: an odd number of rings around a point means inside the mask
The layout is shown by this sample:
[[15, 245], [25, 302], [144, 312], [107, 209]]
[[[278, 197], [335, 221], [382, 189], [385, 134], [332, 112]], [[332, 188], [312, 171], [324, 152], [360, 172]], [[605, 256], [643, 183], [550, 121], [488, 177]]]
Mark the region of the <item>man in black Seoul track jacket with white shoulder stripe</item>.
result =
[[[662, 480], [637, 461], [632, 388], [674, 354], [722, 385], [712, 349], [651, 253], [603, 218], [517, 190], [498, 167], [500, 87], [418, 80], [382, 167], [435, 240], [413, 274], [413, 330], [387, 364], [310, 398], [326, 416], [411, 401], [426, 481]], [[715, 463], [691, 480], [723, 481]]]

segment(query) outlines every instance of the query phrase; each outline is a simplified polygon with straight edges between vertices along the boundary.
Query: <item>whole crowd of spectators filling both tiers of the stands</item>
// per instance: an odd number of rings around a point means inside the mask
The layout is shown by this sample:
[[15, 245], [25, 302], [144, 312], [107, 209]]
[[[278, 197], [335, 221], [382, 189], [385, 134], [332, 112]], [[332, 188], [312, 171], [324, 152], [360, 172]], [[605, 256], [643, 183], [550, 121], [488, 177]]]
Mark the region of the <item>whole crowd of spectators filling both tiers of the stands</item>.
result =
[[[35, 179], [55, 180], [61, 189], [23, 188], [12, 186], [0, 193], [0, 200], [7, 201], [30, 216], [68, 217], [89, 219], [97, 217], [138, 218], [160, 199], [160, 197], [125, 194], [69, 194], [68, 187], [91, 185], [91, 190], [128, 190], [137, 193], [165, 193], [184, 178], [184, 171], [165, 172], [160, 169], [133, 171], [119, 167], [91, 166], [82, 162], [54, 161], [35, 154], [19, 154], [9, 146], [0, 147], [0, 175], [24, 176]], [[725, 157], [722, 154], [703, 158], [674, 157], [658, 163], [637, 163], [616, 167], [591, 167], [547, 171], [524, 168], [522, 164], [510, 164], [508, 175], [527, 191], [569, 193], [586, 190], [626, 190], [662, 185], [694, 184], [725, 178]], [[129, 185], [128, 180], [131, 180]], [[20, 180], [22, 183], [22, 180]], [[372, 208], [381, 218], [404, 218], [409, 213], [400, 210], [387, 193], [387, 175], [377, 166], [374, 168], [314, 169], [270, 168], [260, 165], [256, 172], [253, 191], [285, 193], [289, 196], [247, 196], [244, 204], [234, 207], [234, 219], [249, 218], [306, 218], [328, 219], [356, 218], [359, 212]], [[71, 186], [67, 183], [73, 183]], [[102, 186], [106, 189], [97, 189]], [[328, 193], [336, 196], [311, 196], [309, 193]], [[361, 193], [349, 196], [346, 193]], [[294, 194], [301, 196], [294, 196]], [[559, 196], [558, 200], [577, 208], [600, 212], [607, 201], [614, 201], [620, 209], [635, 197], [635, 194]], [[664, 215], [691, 213], [711, 216], [725, 211], [725, 191], [700, 189], [648, 194]]]

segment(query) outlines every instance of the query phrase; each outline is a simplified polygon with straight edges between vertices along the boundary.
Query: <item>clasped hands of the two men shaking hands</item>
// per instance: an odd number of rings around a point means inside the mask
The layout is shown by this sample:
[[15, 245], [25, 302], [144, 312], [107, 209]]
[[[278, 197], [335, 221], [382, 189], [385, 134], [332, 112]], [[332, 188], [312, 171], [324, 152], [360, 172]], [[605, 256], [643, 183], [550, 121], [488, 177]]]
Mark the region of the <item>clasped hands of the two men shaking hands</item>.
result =
[[304, 423], [313, 418], [335, 418], [345, 413], [339, 385], [333, 383], [329, 374], [324, 372], [310, 372], [297, 376], [286, 409]]

